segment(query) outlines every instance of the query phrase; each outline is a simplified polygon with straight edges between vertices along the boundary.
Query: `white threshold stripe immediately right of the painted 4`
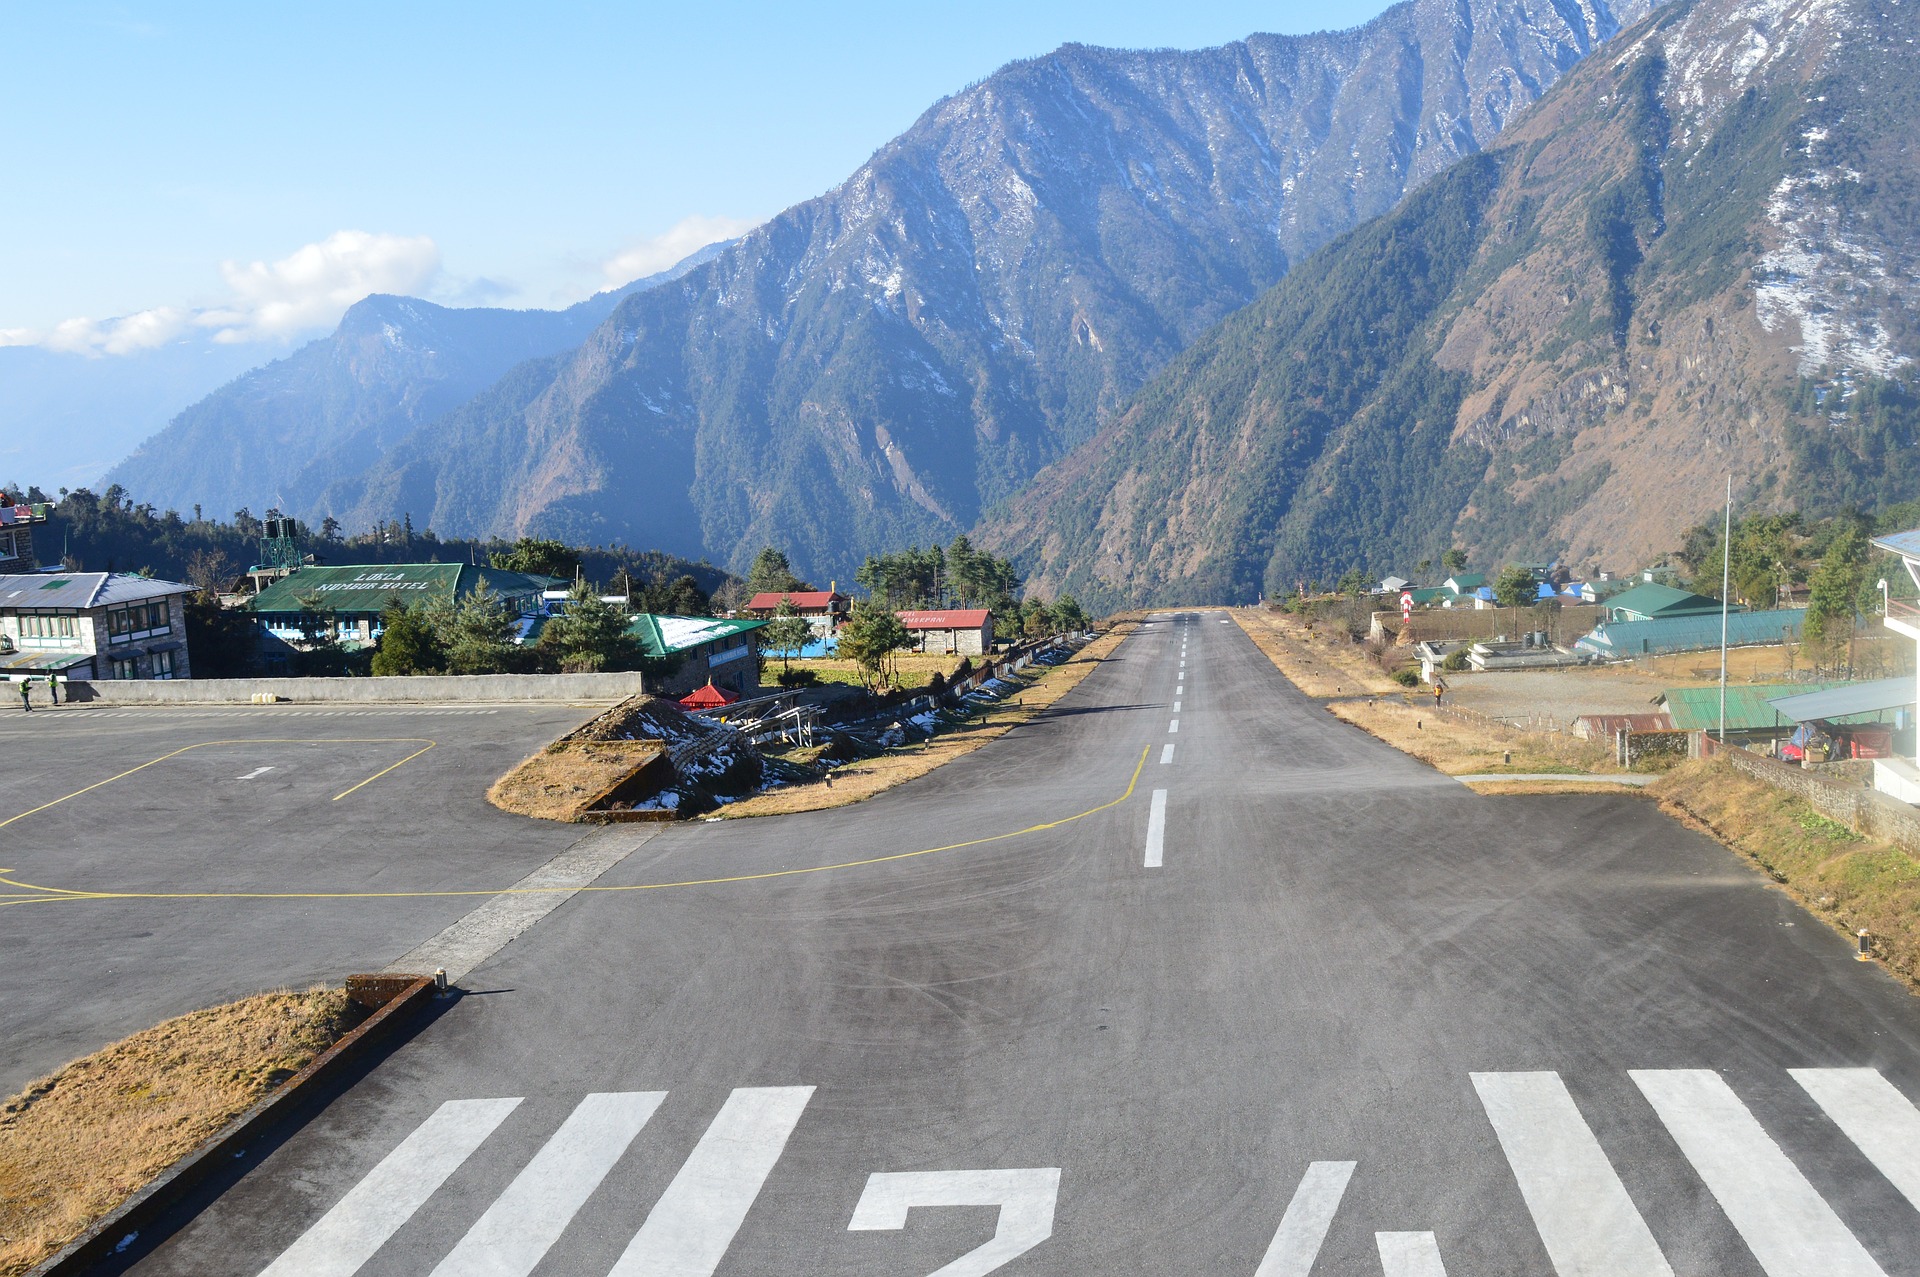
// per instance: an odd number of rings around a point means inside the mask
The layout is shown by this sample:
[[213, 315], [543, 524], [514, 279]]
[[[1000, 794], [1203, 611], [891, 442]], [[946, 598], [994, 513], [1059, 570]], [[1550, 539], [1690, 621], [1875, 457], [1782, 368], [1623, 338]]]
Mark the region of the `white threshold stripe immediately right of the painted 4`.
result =
[[1559, 1073], [1471, 1073], [1559, 1277], [1672, 1277]]

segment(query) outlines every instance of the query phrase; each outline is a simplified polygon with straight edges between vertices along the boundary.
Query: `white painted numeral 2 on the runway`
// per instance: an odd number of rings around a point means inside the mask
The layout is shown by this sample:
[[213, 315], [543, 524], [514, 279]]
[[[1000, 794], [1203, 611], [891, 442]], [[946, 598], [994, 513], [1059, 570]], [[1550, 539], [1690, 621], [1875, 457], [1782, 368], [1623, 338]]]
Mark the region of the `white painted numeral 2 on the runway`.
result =
[[1060, 1168], [1004, 1171], [881, 1171], [868, 1175], [849, 1229], [904, 1229], [914, 1206], [998, 1206], [985, 1244], [927, 1277], [985, 1277], [1054, 1233]]

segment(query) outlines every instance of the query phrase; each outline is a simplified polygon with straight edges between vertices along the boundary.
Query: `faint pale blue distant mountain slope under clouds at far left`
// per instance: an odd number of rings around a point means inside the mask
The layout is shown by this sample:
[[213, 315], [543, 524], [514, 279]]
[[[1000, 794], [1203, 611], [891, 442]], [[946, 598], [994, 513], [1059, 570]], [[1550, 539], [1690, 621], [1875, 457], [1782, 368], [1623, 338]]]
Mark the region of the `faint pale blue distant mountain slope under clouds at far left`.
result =
[[92, 484], [182, 407], [269, 357], [271, 346], [205, 338], [125, 355], [0, 346], [0, 482]]

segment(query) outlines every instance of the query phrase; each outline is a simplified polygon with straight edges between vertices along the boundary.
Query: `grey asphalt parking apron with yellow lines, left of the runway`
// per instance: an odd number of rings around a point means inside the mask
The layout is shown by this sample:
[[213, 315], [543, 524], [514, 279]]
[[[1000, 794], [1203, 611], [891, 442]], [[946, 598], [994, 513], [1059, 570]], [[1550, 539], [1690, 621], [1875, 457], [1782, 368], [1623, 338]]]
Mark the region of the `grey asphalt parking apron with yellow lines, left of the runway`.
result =
[[380, 970], [461, 918], [474, 899], [240, 906], [192, 893], [507, 885], [580, 830], [509, 816], [486, 789], [593, 712], [0, 712], [0, 1095], [169, 1016]]

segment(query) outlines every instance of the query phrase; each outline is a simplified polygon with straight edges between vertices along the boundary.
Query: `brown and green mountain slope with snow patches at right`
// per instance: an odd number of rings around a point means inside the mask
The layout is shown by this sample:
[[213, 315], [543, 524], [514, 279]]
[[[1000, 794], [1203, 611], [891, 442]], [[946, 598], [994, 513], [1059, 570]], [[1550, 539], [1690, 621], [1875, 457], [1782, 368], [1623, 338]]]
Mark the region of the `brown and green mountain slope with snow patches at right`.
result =
[[1682, 0], [1302, 263], [981, 530], [1043, 590], [1252, 599], [1461, 545], [1632, 566], [1920, 495], [1920, 6]]

